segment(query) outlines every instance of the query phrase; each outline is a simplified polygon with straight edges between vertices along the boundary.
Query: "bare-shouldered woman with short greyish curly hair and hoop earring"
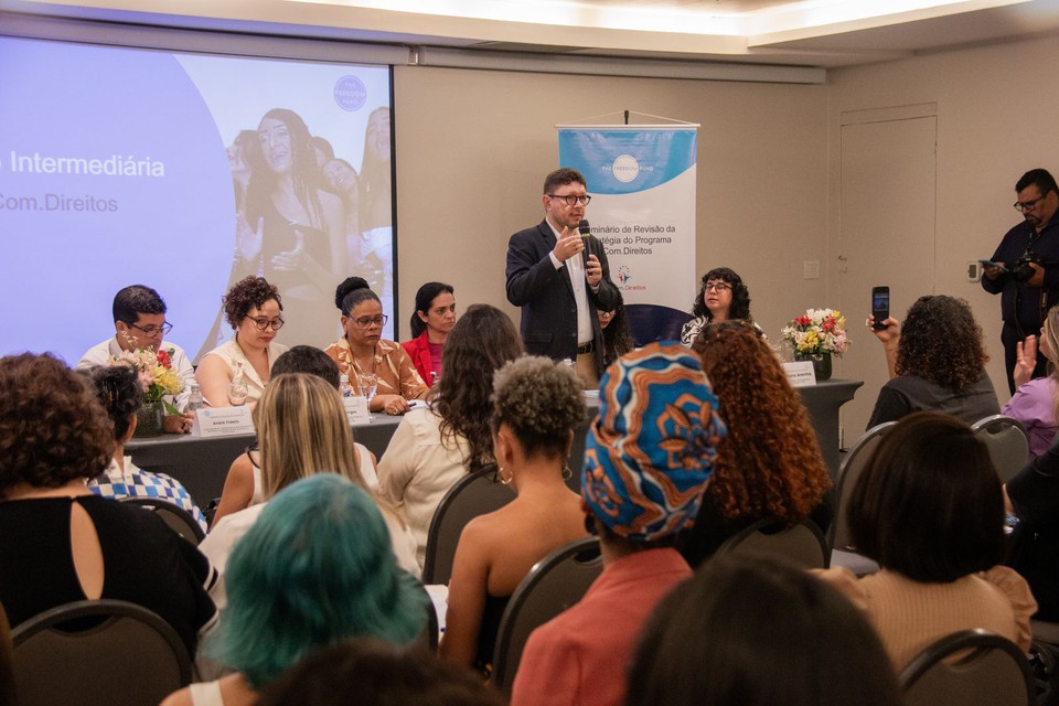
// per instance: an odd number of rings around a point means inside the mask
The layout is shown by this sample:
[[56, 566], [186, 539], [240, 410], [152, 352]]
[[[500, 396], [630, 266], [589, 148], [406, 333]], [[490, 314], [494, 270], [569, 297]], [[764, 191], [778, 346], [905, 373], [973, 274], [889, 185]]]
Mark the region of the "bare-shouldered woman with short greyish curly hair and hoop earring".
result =
[[441, 642], [442, 657], [485, 673], [518, 582], [549, 552], [587, 534], [581, 500], [564, 481], [574, 430], [586, 415], [577, 374], [528, 356], [507, 363], [493, 379], [496, 475], [515, 499], [460, 534]]

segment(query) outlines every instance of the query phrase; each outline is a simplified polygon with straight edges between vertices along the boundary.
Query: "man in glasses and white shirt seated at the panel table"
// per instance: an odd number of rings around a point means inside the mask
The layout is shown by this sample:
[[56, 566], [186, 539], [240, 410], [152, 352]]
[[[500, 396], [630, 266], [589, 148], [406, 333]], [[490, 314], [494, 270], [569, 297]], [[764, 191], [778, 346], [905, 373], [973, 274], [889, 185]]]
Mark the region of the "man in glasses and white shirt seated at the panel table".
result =
[[[169, 333], [173, 324], [165, 321], [165, 302], [157, 291], [143, 285], [132, 285], [118, 291], [114, 296], [114, 329], [111, 338], [88, 349], [81, 361], [78, 370], [107, 365], [110, 357], [117, 357], [121, 351], [163, 350], [172, 351], [172, 367], [184, 383], [184, 389], [174, 399], [175, 407], [181, 411], [188, 406], [191, 396], [191, 386], [195, 384], [195, 370], [184, 350], [175, 343], [162, 345], [162, 338]], [[190, 414], [183, 416], [167, 415], [164, 429], [170, 434], [186, 434], [191, 431], [193, 418]]]

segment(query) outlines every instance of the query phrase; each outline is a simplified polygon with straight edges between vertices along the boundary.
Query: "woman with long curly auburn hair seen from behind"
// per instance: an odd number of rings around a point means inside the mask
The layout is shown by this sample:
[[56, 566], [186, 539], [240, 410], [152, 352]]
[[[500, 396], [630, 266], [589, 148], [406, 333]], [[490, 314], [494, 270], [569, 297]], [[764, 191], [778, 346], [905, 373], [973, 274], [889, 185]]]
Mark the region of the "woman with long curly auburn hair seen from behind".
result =
[[693, 567], [759, 520], [806, 517], [826, 531], [834, 514], [831, 475], [798, 393], [772, 349], [747, 322], [710, 323], [693, 350], [720, 404], [728, 436], [717, 445], [714, 479], [683, 537]]

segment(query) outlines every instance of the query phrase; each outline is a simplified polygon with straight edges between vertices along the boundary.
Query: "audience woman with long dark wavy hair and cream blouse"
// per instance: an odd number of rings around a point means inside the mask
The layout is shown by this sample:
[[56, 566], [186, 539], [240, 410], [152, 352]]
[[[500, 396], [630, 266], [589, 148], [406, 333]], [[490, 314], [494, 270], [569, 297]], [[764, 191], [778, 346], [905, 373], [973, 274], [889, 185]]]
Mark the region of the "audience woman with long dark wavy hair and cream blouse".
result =
[[445, 375], [429, 407], [405, 415], [378, 462], [379, 494], [408, 521], [420, 564], [441, 498], [469, 470], [493, 462], [493, 372], [521, 355], [507, 314], [489, 304], [468, 309], [445, 343]]

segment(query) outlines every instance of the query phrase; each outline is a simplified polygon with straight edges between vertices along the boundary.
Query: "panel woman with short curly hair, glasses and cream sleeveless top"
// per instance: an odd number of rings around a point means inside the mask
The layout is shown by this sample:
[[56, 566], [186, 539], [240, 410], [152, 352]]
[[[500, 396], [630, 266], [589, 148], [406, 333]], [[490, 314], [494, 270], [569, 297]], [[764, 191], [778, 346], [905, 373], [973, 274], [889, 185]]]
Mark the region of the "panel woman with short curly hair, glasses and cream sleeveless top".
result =
[[[265, 392], [272, 363], [287, 352], [286, 345], [272, 341], [284, 325], [279, 290], [264, 277], [244, 277], [224, 296], [222, 306], [235, 335], [199, 362], [199, 389], [212, 407], [243, 404], [240, 391], [232, 389], [242, 379], [245, 402], [253, 405]], [[229, 392], [234, 392], [231, 399]]]

